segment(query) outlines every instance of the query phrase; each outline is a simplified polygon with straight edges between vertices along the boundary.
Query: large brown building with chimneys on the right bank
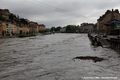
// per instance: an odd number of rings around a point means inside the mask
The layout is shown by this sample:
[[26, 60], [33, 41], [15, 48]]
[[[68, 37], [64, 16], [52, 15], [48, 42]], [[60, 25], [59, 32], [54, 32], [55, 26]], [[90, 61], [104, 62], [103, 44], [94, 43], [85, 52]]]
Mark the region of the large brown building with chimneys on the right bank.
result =
[[[117, 21], [117, 22], [115, 22]], [[111, 34], [114, 32], [116, 23], [120, 22], [120, 13], [118, 9], [107, 10], [104, 15], [97, 20], [97, 31], [99, 33]]]

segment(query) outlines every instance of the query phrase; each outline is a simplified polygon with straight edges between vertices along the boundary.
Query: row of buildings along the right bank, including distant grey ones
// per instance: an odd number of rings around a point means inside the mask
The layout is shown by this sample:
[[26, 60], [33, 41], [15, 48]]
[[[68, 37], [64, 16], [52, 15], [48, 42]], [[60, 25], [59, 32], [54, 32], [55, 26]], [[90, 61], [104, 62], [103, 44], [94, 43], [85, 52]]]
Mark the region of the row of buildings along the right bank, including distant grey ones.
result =
[[99, 33], [107, 35], [120, 35], [120, 13], [118, 9], [107, 10], [100, 16], [96, 24], [82, 23], [81, 33]]

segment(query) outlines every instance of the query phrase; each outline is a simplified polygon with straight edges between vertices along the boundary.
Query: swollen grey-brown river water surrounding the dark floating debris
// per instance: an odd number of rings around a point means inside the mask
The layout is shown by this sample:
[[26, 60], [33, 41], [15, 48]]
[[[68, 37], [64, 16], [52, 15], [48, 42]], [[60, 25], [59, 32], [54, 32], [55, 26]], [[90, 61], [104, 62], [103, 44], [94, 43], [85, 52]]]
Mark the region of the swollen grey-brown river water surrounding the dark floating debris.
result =
[[[105, 60], [73, 60], [97, 56]], [[120, 54], [93, 47], [86, 34], [52, 34], [0, 40], [0, 80], [106, 80], [85, 77], [117, 77]]]

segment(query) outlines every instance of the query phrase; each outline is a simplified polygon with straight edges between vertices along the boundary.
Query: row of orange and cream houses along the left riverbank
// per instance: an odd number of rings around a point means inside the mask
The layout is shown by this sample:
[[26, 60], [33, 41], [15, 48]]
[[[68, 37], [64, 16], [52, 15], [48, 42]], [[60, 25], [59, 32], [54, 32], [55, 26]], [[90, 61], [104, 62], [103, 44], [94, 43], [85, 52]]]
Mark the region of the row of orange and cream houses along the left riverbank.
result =
[[8, 9], [0, 9], [0, 37], [33, 36], [44, 31], [44, 24], [19, 18]]

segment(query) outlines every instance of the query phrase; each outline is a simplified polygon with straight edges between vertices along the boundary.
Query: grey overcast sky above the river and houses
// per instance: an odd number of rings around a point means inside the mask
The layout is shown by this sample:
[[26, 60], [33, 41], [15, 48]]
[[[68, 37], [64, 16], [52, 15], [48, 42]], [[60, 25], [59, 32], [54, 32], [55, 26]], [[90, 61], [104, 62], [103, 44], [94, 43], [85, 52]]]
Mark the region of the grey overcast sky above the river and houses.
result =
[[0, 0], [0, 8], [52, 27], [96, 23], [107, 9], [120, 10], [120, 0]]

